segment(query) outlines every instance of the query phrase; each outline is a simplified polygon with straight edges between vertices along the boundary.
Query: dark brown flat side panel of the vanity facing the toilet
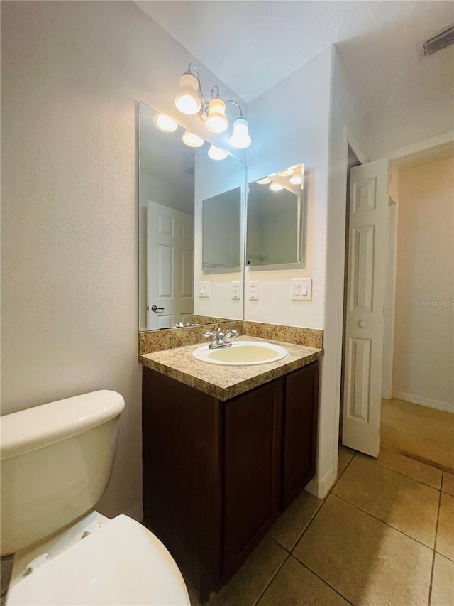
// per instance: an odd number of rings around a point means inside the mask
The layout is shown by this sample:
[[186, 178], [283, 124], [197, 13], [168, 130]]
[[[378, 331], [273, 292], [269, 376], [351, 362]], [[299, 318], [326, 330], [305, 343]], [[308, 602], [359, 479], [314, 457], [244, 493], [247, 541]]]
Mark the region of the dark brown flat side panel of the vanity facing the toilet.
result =
[[222, 404], [143, 369], [143, 511], [204, 599], [221, 583]]

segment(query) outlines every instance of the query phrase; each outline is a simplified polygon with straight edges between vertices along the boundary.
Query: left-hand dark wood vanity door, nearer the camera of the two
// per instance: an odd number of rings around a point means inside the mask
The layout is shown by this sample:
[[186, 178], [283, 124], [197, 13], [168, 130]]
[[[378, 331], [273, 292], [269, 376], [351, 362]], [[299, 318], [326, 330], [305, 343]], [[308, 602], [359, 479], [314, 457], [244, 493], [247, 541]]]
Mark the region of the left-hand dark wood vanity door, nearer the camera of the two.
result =
[[225, 403], [224, 582], [279, 516], [282, 387], [277, 379]]

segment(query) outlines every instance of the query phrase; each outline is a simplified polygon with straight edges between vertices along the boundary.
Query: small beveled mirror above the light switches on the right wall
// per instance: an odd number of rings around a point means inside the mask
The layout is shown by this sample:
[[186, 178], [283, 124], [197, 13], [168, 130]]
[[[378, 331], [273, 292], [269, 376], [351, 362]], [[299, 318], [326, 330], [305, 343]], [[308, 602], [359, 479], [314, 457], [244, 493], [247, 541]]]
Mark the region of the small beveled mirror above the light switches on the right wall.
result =
[[304, 266], [304, 165], [248, 183], [246, 264], [255, 269]]

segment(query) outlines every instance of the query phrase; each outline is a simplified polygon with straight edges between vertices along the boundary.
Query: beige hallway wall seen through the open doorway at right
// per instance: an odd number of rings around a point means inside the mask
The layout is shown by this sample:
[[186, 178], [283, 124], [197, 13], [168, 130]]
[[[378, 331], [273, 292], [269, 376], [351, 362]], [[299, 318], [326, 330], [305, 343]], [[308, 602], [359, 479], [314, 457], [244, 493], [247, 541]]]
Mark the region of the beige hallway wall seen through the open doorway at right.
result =
[[453, 213], [452, 159], [399, 172], [392, 393], [454, 412]]

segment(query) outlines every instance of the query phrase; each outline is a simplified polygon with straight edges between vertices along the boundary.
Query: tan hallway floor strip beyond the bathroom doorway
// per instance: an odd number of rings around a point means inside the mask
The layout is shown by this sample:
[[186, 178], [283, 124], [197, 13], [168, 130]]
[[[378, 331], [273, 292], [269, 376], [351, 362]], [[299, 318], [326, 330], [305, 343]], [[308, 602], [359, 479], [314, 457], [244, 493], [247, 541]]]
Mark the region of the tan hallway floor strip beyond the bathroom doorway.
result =
[[403, 400], [382, 400], [380, 442], [454, 473], [454, 414]]

